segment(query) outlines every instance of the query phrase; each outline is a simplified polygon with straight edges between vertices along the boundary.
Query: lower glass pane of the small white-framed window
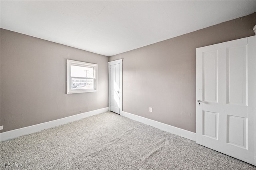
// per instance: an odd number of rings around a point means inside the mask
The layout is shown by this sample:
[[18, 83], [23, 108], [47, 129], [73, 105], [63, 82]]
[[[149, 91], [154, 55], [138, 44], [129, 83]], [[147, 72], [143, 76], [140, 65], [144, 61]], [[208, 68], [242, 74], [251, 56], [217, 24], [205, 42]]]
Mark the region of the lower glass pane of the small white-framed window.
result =
[[71, 90], [94, 89], [94, 79], [71, 79]]

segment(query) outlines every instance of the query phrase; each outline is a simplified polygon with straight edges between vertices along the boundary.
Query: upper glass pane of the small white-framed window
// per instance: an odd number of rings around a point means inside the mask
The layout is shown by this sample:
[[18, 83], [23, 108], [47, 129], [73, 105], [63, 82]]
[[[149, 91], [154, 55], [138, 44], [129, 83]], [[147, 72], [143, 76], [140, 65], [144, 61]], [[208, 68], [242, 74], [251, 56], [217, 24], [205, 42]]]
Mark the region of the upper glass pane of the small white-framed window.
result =
[[93, 78], [93, 68], [71, 65], [71, 77]]

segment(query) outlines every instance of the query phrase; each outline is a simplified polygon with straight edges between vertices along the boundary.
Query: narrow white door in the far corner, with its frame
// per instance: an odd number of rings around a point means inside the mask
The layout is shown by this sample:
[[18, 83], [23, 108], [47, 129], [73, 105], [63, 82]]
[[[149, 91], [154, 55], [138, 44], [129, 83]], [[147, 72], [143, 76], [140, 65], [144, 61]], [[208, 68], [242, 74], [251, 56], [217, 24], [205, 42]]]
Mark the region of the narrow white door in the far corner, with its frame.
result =
[[110, 61], [109, 68], [109, 110], [122, 112], [122, 59]]

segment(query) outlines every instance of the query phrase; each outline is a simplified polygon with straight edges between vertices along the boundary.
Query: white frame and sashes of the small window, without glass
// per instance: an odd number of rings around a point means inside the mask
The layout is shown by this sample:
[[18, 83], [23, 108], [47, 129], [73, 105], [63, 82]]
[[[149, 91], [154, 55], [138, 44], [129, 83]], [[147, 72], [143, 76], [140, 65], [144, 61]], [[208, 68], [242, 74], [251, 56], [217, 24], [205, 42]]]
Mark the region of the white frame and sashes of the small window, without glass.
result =
[[[72, 78], [83, 78], [84, 77], [71, 77], [71, 66], [76, 65], [80, 67], [91, 67], [94, 69], [94, 89], [72, 89]], [[90, 78], [91, 79], [91, 78]], [[93, 63], [86, 63], [82, 61], [74, 61], [67, 59], [67, 94], [72, 94], [72, 93], [87, 93], [87, 92], [95, 92], [97, 91], [98, 87], [98, 64], [93, 64]]]

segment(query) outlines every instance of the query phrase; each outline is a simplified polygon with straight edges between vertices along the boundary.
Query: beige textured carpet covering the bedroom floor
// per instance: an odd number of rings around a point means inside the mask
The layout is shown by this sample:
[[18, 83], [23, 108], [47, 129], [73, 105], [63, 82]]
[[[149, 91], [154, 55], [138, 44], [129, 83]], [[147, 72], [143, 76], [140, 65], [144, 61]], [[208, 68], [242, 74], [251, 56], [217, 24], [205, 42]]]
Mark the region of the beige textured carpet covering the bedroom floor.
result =
[[0, 168], [8, 170], [256, 170], [192, 140], [112, 112], [0, 142], [0, 146]]

